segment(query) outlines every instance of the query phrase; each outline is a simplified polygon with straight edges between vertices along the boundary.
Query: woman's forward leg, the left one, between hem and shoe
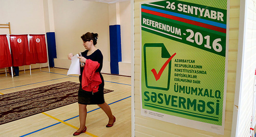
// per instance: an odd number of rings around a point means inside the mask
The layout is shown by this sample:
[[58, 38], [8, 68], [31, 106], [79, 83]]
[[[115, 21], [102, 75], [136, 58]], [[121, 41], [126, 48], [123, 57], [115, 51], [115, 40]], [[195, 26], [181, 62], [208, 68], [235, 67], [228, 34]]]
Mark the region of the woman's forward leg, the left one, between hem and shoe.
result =
[[86, 127], [87, 105], [79, 104], [80, 127], [76, 132], [81, 132]]

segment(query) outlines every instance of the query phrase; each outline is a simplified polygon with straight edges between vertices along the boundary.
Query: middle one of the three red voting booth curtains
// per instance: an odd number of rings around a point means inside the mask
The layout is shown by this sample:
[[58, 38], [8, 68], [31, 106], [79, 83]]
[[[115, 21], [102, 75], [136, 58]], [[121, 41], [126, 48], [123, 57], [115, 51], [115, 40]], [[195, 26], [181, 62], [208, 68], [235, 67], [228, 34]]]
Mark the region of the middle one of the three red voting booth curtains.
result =
[[31, 64], [28, 35], [10, 35], [10, 45], [14, 67]]

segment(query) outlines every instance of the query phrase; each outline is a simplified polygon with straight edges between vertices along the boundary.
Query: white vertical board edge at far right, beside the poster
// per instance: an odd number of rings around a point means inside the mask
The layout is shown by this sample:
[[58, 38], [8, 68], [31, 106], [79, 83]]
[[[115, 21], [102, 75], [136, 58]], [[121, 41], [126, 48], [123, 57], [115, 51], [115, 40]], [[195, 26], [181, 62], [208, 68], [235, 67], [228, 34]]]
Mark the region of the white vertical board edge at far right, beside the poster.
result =
[[[250, 136], [251, 117], [253, 111], [254, 73], [256, 69], [256, 1], [241, 2], [240, 42], [238, 53], [236, 100], [238, 109], [234, 109], [234, 121], [237, 125], [236, 136]], [[241, 15], [240, 14], [240, 15]], [[240, 85], [241, 84], [241, 85]], [[254, 106], [255, 107], [255, 106]], [[254, 128], [254, 127], [252, 127]], [[251, 131], [253, 132], [253, 131]]]

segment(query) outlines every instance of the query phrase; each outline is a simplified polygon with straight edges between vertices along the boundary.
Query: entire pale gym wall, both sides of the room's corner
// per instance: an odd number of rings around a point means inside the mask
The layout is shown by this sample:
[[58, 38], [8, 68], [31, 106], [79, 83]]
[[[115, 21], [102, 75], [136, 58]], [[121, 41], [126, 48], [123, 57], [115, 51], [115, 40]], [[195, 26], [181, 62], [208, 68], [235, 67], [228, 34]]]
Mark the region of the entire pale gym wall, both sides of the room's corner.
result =
[[[119, 6], [122, 42], [119, 74], [131, 75], [130, 1], [120, 2]], [[46, 34], [55, 31], [57, 59], [54, 59], [54, 63], [59, 68], [69, 68], [67, 54], [84, 51], [80, 37], [93, 32], [99, 34], [96, 47], [103, 54], [102, 72], [110, 73], [109, 16], [109, 4], [106, 3], [83, 0], [0, 0], [0, 23], [11, 22], [12, 34]], [[0, 34], [9, 34], [9, 30], [0, 29]]]

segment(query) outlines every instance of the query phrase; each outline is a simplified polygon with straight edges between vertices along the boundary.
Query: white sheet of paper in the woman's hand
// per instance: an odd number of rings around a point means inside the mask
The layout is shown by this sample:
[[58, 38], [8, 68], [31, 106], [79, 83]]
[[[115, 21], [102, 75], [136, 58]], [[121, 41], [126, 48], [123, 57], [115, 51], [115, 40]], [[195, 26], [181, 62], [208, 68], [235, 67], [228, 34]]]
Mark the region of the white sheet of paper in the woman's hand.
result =
[[80, 75], [80, 62], [77, 57], [79, 57], [78, 54], [76, 54], [75, 56], [73, 56], [71, 58], [71, 65], [69, 67], [69, 71], [68, 71], [67, 75], [70, 75], [70, 74], [79, 74]]

